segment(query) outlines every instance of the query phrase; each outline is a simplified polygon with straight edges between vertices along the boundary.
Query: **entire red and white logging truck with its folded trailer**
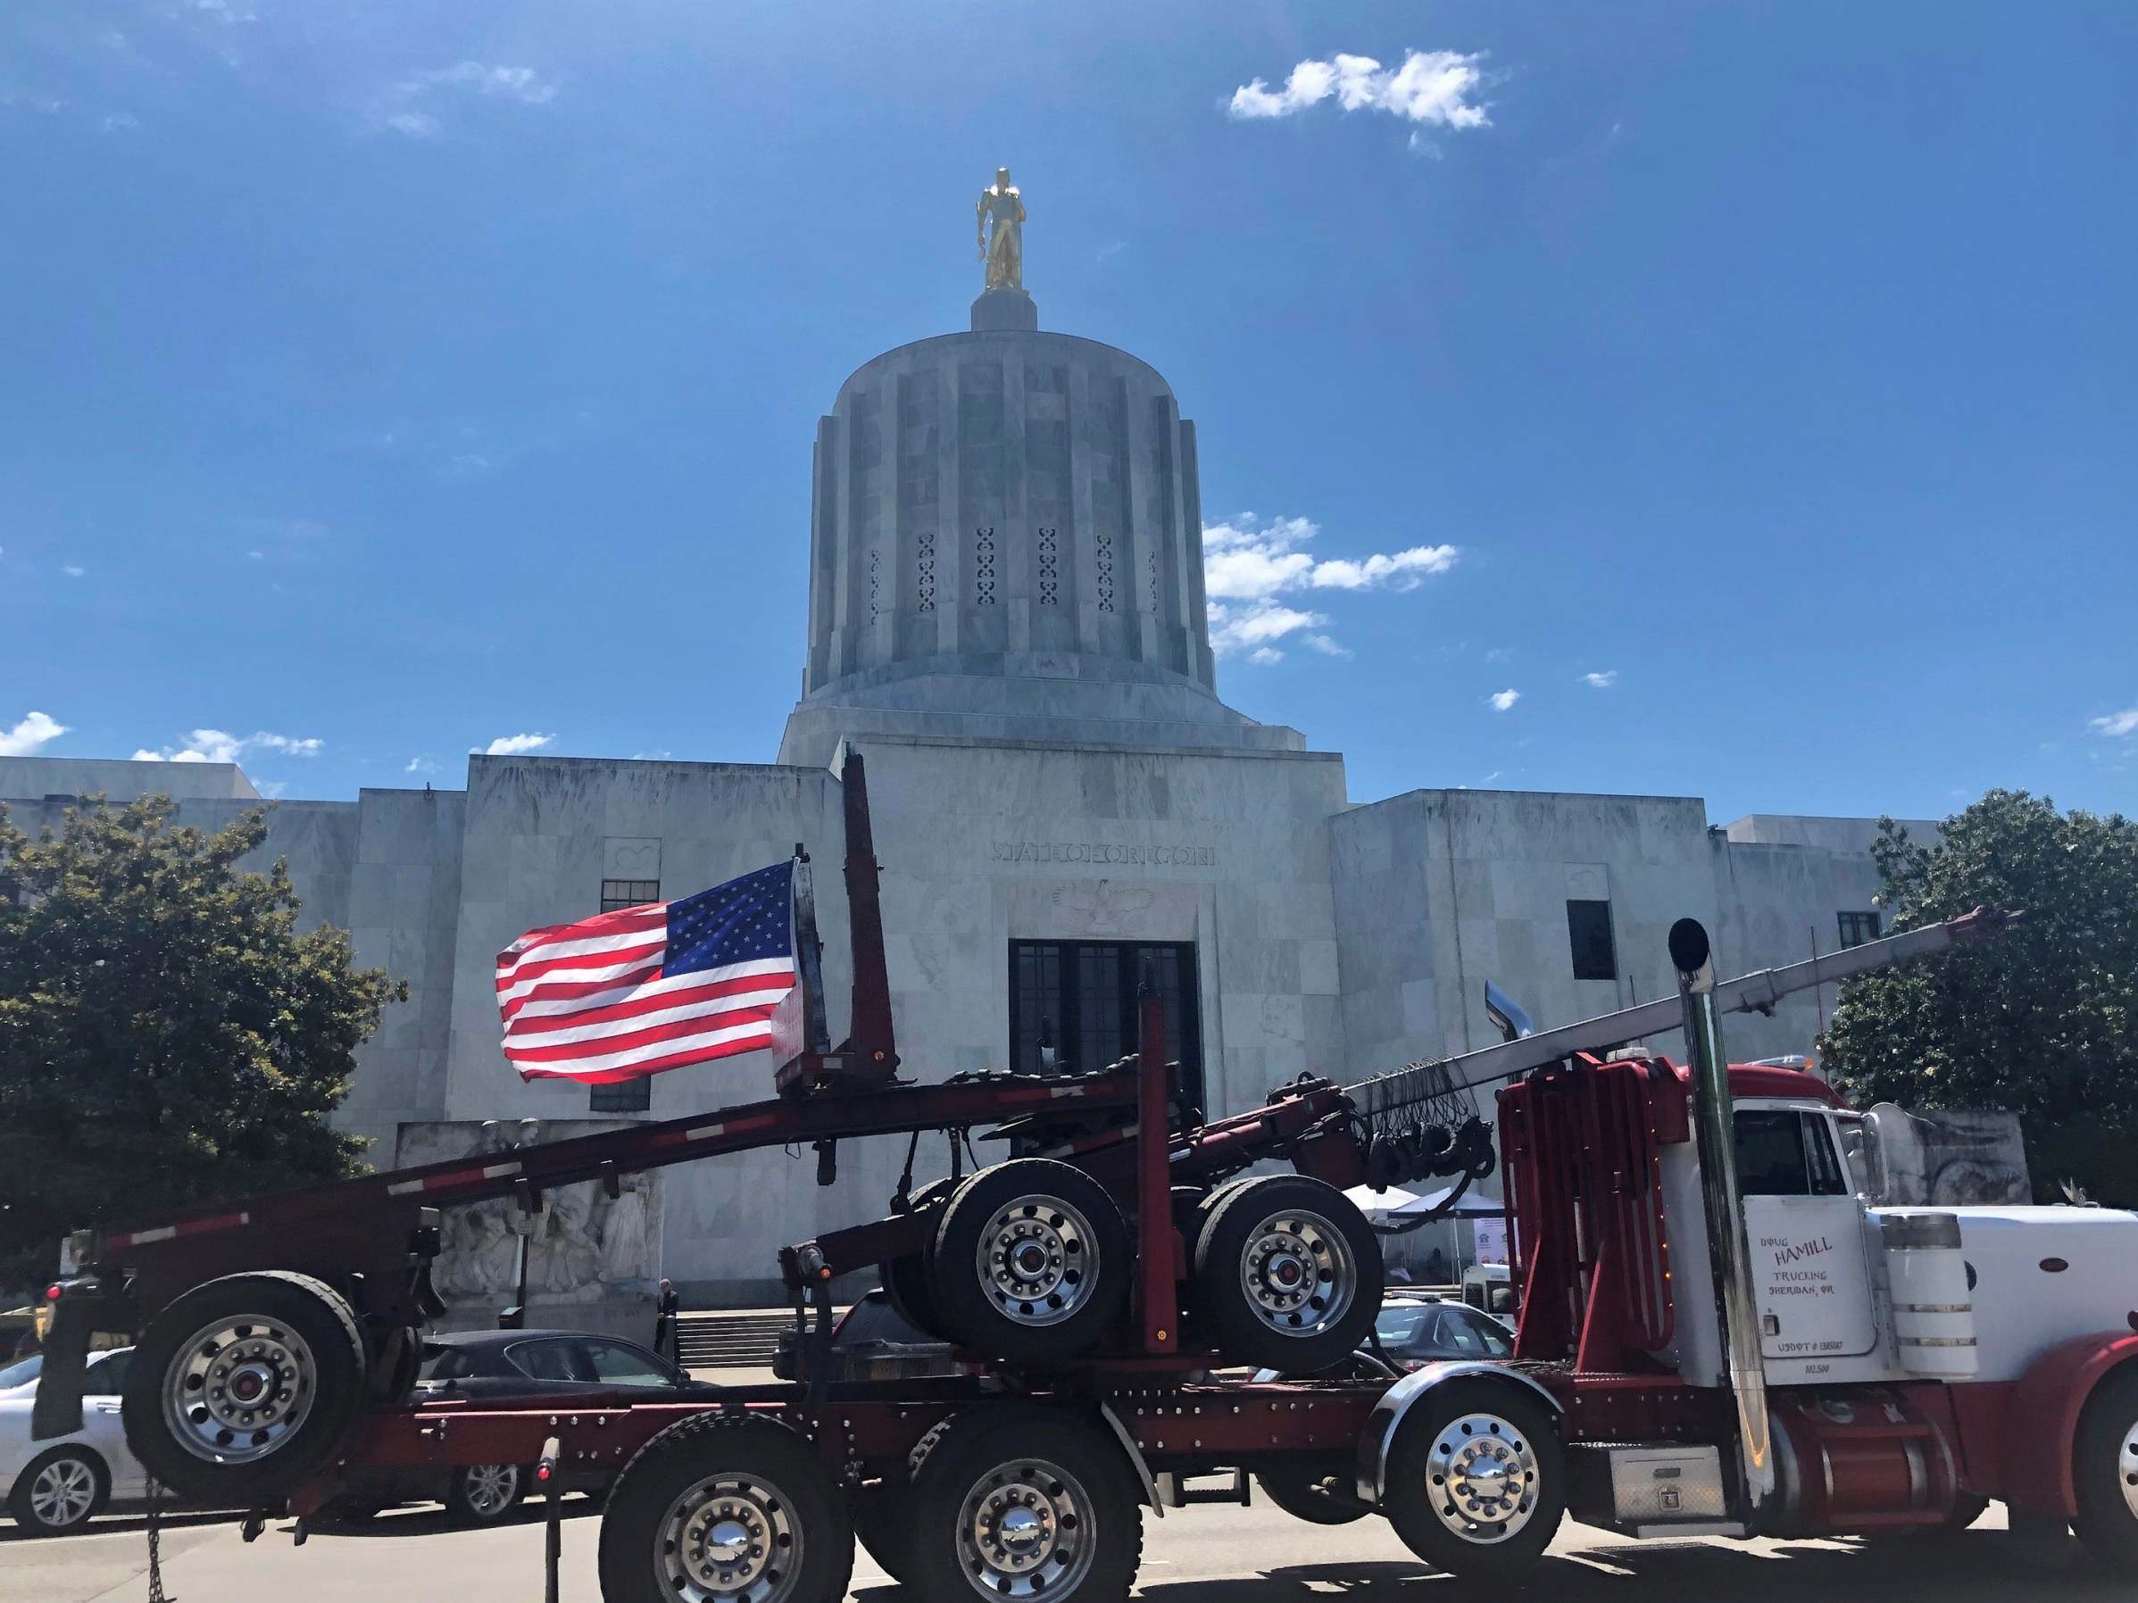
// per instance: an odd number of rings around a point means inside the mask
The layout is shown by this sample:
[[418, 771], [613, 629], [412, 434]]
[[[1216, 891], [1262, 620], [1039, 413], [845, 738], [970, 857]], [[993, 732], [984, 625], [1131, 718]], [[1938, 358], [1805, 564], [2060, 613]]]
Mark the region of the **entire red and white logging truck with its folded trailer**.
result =
[[[845, 1592], [859, 1541], [928, 1599], [1122, 1599], [1144, 1509], [1379, 1513], [1432, 1565], [1503, 1575], [1563, 1518], [1642, 1537], [1939, 1528], [2001, 1498], [2138, 1571], [2138, 1218], [1886, 1208], [1847, 1184], [1852, 1118], [1792, 1069], [1730, 1067], [1719, 1015], [1982, 938], [1978, 911], [1680, 996], [1420, 1062], [1302, 1077], [1204, 1120], [1169, 1103], [1165, 1022], [1101, 1075], [898, 1077], [857, 757], [845, 769], [851, 1034], [825, 1045], [797, 945], [780, 1096], [665, 1124], [242, 1199], [92, 1233], [60, 1287], [36, 1430], [79, 1411], [92, 1329], [137, 1332], [128, 1436], [220, 1507], [316, 1513], [389, 1466], [611, 1464], [609, 1603]], [[810, 906], [797, 906], [808, 932]], [[1687, 1030], [1687, 1062], [1606, 1056]], [[1360, 1355], [1379, 1242], [1343, 1190], [1488, 1173], [1499, 1090], [1522, 1287], [1503, 1364], [1394, 1379]], [[810, 1141], [996, 1126], [1009, 1156], [780, 1252], [793, 1383], [714, 1402], [410, 1404], [436, 1210]], [[1736, 1154], [1796, 1141], [1747, 1197]], [[958, 1152], [962, 1141], [954, 1141]], [[911, 1146], [909, 1146], [911, 1152]], [[1272, 1165], [1289, 1171], [1270, 1173]], [[1264, 1171], [1255, 1171], [1264, 1169]], [[1834, 1176], [1843, 1180], [1834, 1180]], [[872, 1381], [830, 1347], [830, 1285], [877, 1267], [964, 1372]], [[1227, 1366], [1274, 1376], [1214, 1379]], [[1229, 1477], [1223, 1490], [1210, 1477]]]

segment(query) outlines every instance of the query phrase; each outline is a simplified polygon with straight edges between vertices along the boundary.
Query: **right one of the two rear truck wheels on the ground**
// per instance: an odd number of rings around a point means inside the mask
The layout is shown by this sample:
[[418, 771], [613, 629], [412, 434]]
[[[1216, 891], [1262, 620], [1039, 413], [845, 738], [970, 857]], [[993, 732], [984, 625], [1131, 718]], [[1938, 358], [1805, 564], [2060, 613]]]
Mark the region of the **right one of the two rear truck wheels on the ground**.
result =
[[[992, 1488], [1024, 1541], [969, 1539], [975, 1498]], [[983, 1402], [951, 1415], [913, 1477], [907, 1584], [928, 1603], [1013, 1594], [1045, 1575], [1050, 1603], [1120, 1603], [1144, 1560], [1135, 1470], [1101, 1426], [1039, 1402]], [[996, 1567], [990, 1569], [990, 1560]], [[1016, 1565], [1009, 1569], [1007, 1565]], [[994, 1582], [1009, 1582], [996, 1586]]]

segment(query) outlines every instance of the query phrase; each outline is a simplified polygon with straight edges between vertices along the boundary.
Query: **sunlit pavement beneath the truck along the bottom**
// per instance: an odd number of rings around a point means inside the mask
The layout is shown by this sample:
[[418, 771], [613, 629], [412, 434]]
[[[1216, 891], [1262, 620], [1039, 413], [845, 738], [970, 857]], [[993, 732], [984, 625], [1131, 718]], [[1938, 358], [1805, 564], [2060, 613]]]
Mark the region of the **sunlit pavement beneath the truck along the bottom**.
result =
[[[567, 1505], [560, 1603], [599, 1603], [594, 1505]], [[2057, 1597], [2127, 1603], [2132, 1588], [2089, 1560], [2067, 1573], [2018, 1567], [1999, 1511], [1952, 1537], [1858, 1541], [1625, 1541], [1563, 1526], [1546, 1560], [1494, 1597], [1552, 1603], [1892, 1603]], [[165, 1588], [177, 1603], [539, 1603], [541, 1520], [453, 1530], [434, 1511], [398, 1511], [368, 1526], [319, 1530], [291, 1545], [274, 1524], [246, 1545], [233, 1522], [173, 1518], [165, 1526]], [[1308, 1526], [1268, 1505], [1144, 1515], [1140, 1599], [1161, 1603], [1298, 1603], [1304, 1599], [1475, 1597], [1477, 1588], [1420, 1565], [1381, 1520]], [[98, 1520], [81, 1537], [24, 1539], [0, 1528], [6, 1603], [143, 1603], [148, 1539], [139, 1518]], [[924, 1603], [866, 1554], [855, 1603]], [[926, 1599], [926, 1603], [947, 1603]]]

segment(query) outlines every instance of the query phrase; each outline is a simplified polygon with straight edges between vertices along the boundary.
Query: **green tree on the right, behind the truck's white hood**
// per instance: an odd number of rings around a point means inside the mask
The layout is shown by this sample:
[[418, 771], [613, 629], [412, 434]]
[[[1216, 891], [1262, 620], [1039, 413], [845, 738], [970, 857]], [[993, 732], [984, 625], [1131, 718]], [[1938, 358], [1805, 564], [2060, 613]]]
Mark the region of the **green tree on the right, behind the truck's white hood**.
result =
[[2027, 919], [1847, 981], [1819, 1043], [1834, 1081], [1858, 1107], [2010, 1109], [2038, 1197], [2078, 1180], [2138, 1203], [2138, 825], [1990, 791], [1933, 844], [1881, 819], [1873, 853], [1894, 930], [1980, 904]]

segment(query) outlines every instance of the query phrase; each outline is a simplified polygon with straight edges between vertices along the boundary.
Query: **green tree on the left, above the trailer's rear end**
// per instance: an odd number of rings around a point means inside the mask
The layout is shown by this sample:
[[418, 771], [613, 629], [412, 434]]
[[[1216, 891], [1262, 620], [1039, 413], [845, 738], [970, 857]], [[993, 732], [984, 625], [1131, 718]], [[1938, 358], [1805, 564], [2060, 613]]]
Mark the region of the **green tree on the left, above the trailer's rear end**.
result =
[[96, 797], [30, 840], [0, 808], [0, 1285], [81, 1225], [363, 1169], [325, 1120], [406, 983], [297, 934], [286, 863], [237, 870], [265, 812], [175, 812]]

